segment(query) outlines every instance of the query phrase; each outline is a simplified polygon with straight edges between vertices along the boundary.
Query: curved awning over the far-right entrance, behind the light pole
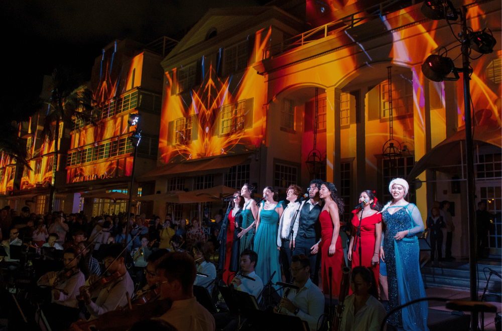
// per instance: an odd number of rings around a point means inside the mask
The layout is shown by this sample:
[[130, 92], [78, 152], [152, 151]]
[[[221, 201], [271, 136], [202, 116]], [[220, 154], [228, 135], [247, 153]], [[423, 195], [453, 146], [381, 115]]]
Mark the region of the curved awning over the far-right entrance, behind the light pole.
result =
[[[487, 143], [502, 148], [500, 128], [476, 126], [473, 128], [473, 143]], [[461, 164], [465, 164], [465, 129], [443, 140], [425, 154], [413, 167], [408, 180], [414, 180], [427, 169], [445, 173], [457, 173]], [[461, 171], [461, 170], [460, 170]]]

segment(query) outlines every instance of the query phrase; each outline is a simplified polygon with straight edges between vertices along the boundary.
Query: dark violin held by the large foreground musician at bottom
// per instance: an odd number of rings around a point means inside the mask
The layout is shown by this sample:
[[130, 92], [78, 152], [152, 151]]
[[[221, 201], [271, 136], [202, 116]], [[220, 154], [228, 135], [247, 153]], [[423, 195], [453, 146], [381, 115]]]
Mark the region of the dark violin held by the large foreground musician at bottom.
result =
[[[73, 323], [83, 330], [90, 330], [94, 326], [99, 331], [124, 331], [130, 329], [135, 323], [163, 315], [171, 309], [173, 302], [170, 299], [157, 300], [146, 304], [133, 306], [133, 310], [111, 310], [89, 322]], [[73, 331], [69, 328], [66, 331]]]

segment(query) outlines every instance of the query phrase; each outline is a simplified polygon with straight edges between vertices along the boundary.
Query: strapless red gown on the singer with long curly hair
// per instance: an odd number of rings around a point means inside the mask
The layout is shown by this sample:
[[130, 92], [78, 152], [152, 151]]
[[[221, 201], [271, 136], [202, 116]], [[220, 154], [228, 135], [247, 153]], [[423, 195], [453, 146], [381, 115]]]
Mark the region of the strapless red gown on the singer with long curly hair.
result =
[[[328, 256], [331, 238], [333, 237], [333, 222], [327, 210], [321, 211], [319, 214], [319, 222], [321, 224], [321, 277], [322, 277], [322, 292], [329, 295], [329, 288], [333, 296], [338, 296], [340, 293], [340, 282], [342, 280], [342, 267], [345, 266], [343, 259], [342, 241], [340, 236], [336, 240], [335, 254]], [[329, 268], [331, 267], [332, 277], [329, 282]]]

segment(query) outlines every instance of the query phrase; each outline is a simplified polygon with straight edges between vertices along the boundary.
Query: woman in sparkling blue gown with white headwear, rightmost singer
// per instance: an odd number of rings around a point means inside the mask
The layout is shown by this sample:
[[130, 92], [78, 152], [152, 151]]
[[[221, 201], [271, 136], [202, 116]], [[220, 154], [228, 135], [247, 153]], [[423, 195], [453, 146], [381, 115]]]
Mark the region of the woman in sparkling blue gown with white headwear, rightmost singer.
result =
[[[406, 302], [426, 297], [417, 238], [417, 234], [424, 231], [424, 224], [418, 207], [404, 199], [408, 188], [406, 180], [393, 179], [389, 184], [393, 199], [382, 211], [382, 218], [387, 226], [380, 250], [387, 264], [387, 312]], [[394, 312], [387, 321], [394, 326], [402, 326], [407, 331], [429, 331], [427, 314], [427, 301], [422, 301]]]

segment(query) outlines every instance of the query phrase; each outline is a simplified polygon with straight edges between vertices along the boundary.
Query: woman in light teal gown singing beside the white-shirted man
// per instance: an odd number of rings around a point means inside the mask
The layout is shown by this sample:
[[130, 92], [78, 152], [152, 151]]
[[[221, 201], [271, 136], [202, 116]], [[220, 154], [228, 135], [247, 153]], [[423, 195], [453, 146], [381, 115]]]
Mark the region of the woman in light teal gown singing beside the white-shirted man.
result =
[[[253, 250], [258, 254], [255, 272], [265, 285], [274, 271], [276, 273], [272, 278], [272, 283], [275, 284], [282, 280], [279, 250], [276, 241], [279, 218], [281, 218], [284, 208], [278, 203], [278, 193], [274, 192], [272, 187], [265, 187], [263, 197], [265, 201], [258, 210]], [[279, 286], [274, 287], [279, 288]]]

